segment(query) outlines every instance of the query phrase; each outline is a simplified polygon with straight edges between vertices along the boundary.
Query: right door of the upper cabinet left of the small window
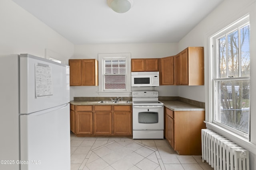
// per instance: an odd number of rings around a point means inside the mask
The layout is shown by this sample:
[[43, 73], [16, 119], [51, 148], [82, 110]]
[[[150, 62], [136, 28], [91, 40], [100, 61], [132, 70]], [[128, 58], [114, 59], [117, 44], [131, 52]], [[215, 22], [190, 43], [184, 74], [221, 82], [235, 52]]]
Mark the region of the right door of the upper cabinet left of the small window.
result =
[[98, 77], [96, 77], [95, 62], [95, 59], [82, 60], [82, 86], [98, 86]]

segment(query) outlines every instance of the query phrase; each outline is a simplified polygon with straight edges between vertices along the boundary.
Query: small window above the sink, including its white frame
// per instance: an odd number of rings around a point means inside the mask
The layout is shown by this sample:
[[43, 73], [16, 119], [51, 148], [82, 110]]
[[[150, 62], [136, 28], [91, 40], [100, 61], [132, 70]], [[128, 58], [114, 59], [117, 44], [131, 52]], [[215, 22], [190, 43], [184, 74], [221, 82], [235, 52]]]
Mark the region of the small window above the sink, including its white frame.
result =
[[130, 92], [130, 53], [99, 54], [99, 92]]

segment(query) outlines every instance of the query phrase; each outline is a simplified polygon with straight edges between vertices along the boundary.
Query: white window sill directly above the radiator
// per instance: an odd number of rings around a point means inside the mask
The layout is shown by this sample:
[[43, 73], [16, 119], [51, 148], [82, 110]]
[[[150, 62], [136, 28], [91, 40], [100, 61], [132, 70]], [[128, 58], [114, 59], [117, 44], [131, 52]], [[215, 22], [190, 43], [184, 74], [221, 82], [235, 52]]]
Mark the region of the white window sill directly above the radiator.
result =
[[248, 139], [243, 138], [236, 133], [233, 133], [231, 131], [228, 131], [227, 129], [224, 129], [223, 127], [220, 127], [214, 123], [210, 123], [207, 121], [204, 121], [206, 123], [207, 129], [216, 131], [216, 133], [219, 133], [220, 135], [226, 137], [230, 141], [236, 143], [237, 145], [240, 145], [244, 149], [249, 150], [253, 154], [256, 154], [256, 145], [248, 141]]

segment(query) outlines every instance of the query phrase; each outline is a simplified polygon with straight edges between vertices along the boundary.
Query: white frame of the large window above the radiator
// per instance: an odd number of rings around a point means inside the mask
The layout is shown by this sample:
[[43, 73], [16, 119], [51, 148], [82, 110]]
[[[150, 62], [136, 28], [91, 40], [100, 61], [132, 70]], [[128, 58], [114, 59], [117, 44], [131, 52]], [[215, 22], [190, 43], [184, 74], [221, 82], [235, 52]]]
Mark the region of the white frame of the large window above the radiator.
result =
[[[225, 125], [224, 123], [220, 123], [218, 121], [215, 121], [216, 118], [216, 111], [218, 111], [219, 107], [216, 108], [217, 106], [220, 106], [220, 104], [218, 104], [216, 102], [216, 98], [219, 98], [220, 94], [216, 94], [218, 91], [218, 87], [217, 87], [217, 83], [216, 82], [220, 82], [223, 80], [250, 80], [250, 76], [244, 76], [241, 77], [240, 76], [240, 72], [241, 69], [239, 68], [238, 77], [226, 77], [226, 78], [219, 78], [216, 77], [219, 72], [218, 72], [218, 68], [219, 68], [219, 63], [218, 63], [218, 39], [220, 39], [221, 37], [226, 37], [226, 34], [232, 33], [234, 30], [238, 29], [238, 28], [242, 28], [246, 25], [250, 25], [250, 18], [249, 15], [246, 15], [242, 18], [240, 18], [239, 20], [235, 21], [234, 23], [228, 25], [227, 27], [225, 27], [224, 29], [221, 29], [220, 31], [218, 31], [217, 33], [215, 33], [214, 35], [210, 36], [209, 40], [210, 40], [210, 60], [209, 60], [209, 66], [210, 66], [210, 122], [214, 123], [215, 125], [218, 125], [224, 129], [227, 129], [228, 131], [231, 131], [237, 135], [239, 135], [240, 137], [243, 137], [244, 139], [246, 139], [247, 141], [250, 141], [250, 113], [251, 111], [249, 111], [249, 129], [248, 129], [248, 134], [247, 133], [243, 133], [242, 131], [236, 130], [228, 125]], [[240, 31], [239, 31], [240, 32]], [[240, 33], [239, 33], [240, 34]], [[226, 47], [228, 50], [228, 47]], [[226, 51], [227, 51], [226, 50]], [[240, 38], [239, 38], [239, 55], [241, 54], [240, 52]], [[238, 56], [238, 60], [241, 61], [241, 55]], [[240, 64], [239, 64], [240, 67]], [[226, 65], [226, 74], [228, 75], [228, 65]]]

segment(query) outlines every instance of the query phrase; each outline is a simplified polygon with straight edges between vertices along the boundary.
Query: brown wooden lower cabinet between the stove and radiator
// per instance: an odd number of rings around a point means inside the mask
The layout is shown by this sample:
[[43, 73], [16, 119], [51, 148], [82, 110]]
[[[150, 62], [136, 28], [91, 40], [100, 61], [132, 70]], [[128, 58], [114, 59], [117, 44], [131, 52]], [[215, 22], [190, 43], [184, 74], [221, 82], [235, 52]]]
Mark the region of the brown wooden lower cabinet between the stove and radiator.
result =
[[164, 115], [164, 135], [171, 147], [180, 155], [202, 155], [204, 111], [172, 111], [164, 107]]

